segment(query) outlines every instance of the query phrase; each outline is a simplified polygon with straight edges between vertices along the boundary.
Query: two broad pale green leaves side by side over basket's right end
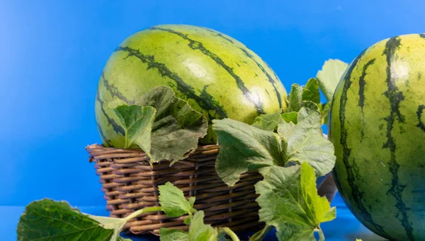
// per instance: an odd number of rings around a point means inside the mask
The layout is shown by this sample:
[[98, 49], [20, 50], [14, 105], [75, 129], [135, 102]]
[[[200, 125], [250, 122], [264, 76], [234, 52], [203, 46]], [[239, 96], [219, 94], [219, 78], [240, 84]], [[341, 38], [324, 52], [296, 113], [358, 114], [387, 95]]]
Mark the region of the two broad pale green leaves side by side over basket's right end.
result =
[[334, 167], [334, 146], [322, 136], [317, 110], [301, 107], [297, 124], [282, 119], [277, 133], [233, 119], [212, 122], [220, 143], [215, 167], [217, 174], [230, 187], [242, 173], [261, 167], [288, 167], [307, 162], [319, 177]]

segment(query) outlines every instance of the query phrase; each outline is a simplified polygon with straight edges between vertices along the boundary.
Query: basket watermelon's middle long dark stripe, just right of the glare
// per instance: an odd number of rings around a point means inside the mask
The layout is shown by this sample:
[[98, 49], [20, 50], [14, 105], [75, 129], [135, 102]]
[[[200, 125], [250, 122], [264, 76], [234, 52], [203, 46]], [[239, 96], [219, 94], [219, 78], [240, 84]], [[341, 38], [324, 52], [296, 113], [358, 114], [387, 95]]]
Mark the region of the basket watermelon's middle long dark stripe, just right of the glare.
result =
[[242, 93], [244, 93], [245, 97], [254, 104], [257, 113], [258, 114], [265, 114], [263, 104], [259, 100], [256, 100], [256, 98], [254, 98], [254, 96], [249, 91], [249, 89], [246, 88], [244, 81], [242, 81], [242, 79], [239, 76], [237, 76], [237, 74], [234, 74], [233, 69], [230, 68], [229, 66], [227, 66], [225, 64], [225, 62], [220, 57], [217, 56], [217, 54], [210, 52], [210, 50], [206, 49], [203, 46], [202, 42], [192, 40], [187, 35], [184, 35], [183, 33], [177, 32], [177, 31], [172, 30], [172, 29], [157, 28], [157, 27], [153, 27], [153, 28], [150, 28], [150, 29], [151, 30], [162, 30], [162, 31], [165, 31], [165, 32], [168, 32], [168, 33], [173, 33], [175, 35], [178, 35], [179, 37], [182, 37], [184, 40], [188, 40], [188, 42], [189, 42], [188, 47], [190, 47], [191, 49], [198, 49], [200, 52], [202, 52], [206, 56], [210, 57], [219, 66], [221, 66], [223, 69], [225, 69], [227, 71], [227, 73], [229, 73], [234, 78], [234, 80], [236, 81], [236, 85], [239, 88], [239, 90], [241, 90]]

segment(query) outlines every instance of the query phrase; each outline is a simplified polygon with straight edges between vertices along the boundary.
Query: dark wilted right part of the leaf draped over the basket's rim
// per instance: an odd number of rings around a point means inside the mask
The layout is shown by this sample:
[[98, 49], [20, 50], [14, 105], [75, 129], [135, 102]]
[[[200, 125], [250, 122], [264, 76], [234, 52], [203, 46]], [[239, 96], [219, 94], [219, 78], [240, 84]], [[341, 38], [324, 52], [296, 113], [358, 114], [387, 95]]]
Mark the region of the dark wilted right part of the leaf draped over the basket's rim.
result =
[[207, 118], [177, 98], [168, 86], [153, 88], [136, 103], [157, 109], [152, 126], [152, 162], [173, 160], [172, 165], [186, 158], [198, 147], [198, 139], [207, 134]]

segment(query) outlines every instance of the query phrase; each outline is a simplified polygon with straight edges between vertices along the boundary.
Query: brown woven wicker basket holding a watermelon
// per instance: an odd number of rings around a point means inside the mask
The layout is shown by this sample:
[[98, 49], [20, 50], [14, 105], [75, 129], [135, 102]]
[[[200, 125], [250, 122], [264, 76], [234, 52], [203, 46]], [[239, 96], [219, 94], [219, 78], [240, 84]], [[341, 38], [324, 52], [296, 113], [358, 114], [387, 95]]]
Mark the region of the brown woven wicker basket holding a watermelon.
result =
[[[188, 158], [150, 165], [140, 149], [109, 148], [94, 144], [86, 147], [90, 162], [95, 162], [111, 217], [122, 218], [149, 206], [159, 206], [158, 186], [166, 182], [181, 189], [186, 197], [196, 196], [194, 208], [205, 212], [205, 223], [229, 227], [234, 232], [256, 231], [259, 206], [254, 184], [262, 180], [258, 172], [246, 172], [234, 187], [228, 187], [215, 172], [217, 145], [199, 146]], [[144, 213], [128, 222], [124, 231], [159, 235], [160, 228], [188, 230], [184, 218], [168, 218], [164, 212]]]

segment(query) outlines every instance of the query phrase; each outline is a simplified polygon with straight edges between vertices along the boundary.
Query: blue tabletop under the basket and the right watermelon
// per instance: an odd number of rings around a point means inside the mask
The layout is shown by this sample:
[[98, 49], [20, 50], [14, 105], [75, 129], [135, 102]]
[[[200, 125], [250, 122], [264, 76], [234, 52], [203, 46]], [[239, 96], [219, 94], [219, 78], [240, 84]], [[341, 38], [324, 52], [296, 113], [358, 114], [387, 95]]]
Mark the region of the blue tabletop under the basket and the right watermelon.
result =
[[[336, 206], [337, 218], [334, 221], [322, 224], [327, 241], [354, 241], [356, 238], [361, 238], [363, 241], [385, 241], [384, 238], [371, 233], [354, 218], [339, 194], [336, 194], [331, 206]], [[24, 209], [23, 206], [0, 206], [0, 240], [16, 240], [16, 225]], [[108, 212], [105, 211], [103, 206], [81, 206], [79, 209], [84, 213], [108, 216]], [[126, 237], [135, 241], [159, 241], [159, 238], [153, 235]], [[269, 233], [265, 239], [265, 241], [272, 240], [277, 240], [274, 231]]]

